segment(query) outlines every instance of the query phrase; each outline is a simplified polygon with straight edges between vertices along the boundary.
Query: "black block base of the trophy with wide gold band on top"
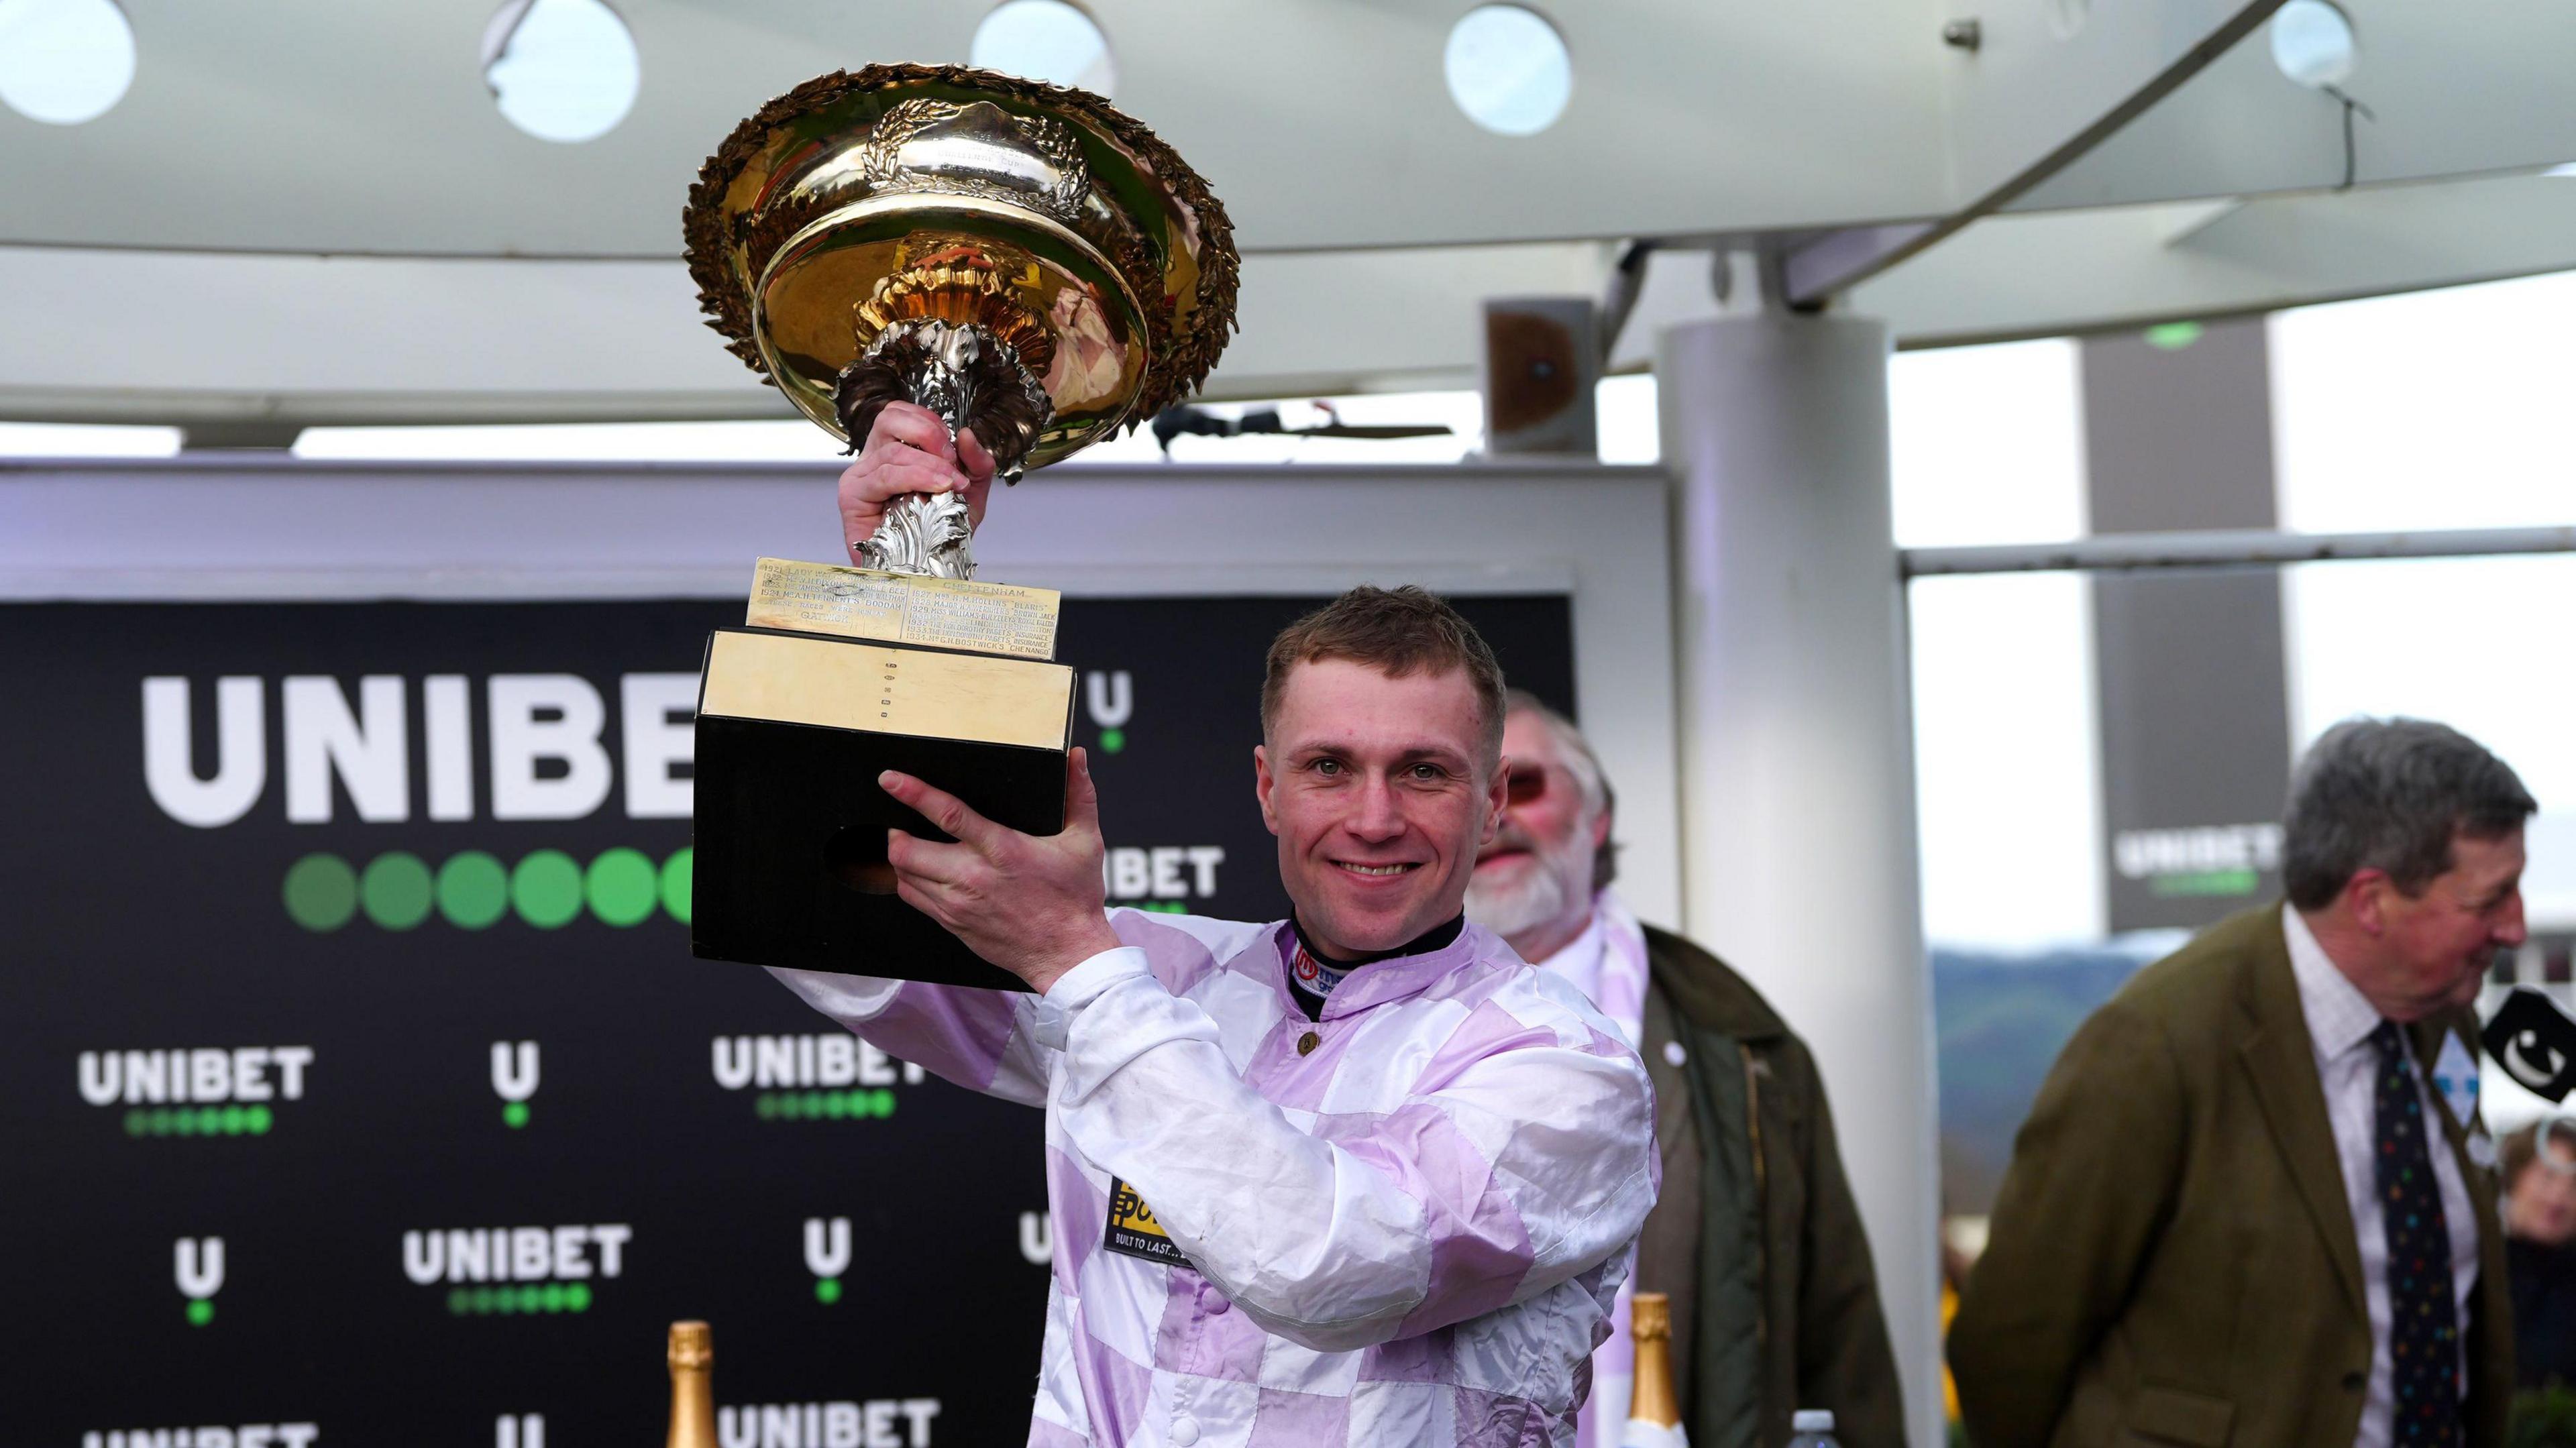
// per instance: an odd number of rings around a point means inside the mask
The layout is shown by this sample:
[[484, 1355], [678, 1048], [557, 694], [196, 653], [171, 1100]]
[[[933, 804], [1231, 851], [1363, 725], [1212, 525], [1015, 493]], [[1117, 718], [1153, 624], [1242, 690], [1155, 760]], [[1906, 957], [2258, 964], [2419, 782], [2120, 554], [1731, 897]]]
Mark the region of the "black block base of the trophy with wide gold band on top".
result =
[[1056, 662], [719, 629], [698, 691], [690, 951], [1025, 989], [894, 894], [886, 830], [948, 835], [876, 778], [902, 770], [1056, 835], [1072, 721], [1074, 670]]

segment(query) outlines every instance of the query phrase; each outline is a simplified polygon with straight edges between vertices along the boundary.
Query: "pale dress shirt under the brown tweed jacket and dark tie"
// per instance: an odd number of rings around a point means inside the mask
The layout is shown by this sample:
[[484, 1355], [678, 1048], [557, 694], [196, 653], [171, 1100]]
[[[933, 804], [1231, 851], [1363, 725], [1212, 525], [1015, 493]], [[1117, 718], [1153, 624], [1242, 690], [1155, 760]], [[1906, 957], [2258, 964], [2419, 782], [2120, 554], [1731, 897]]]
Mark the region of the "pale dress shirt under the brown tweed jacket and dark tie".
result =
[[[2308, 1018], [2308, 1043], [2316, 1051], [2316, 1082], [2326, 1090], [2334, 1157], [2344, 1167], [2344, 1201], [2352, 1206], [2352, 1234], [2362, 1247], [2362, 1299], [2370, 1306], [2370, 1391], [2362, 1399], [2362, 1430], [2352, 1443], [2354, 1448], [2388, 1448], [2396, 1394], [2388, 1358], [2388, 1232], [2380, 1221], [2378, 1172], [2372, 1170], [2378, 1046], [2370, 1043], [2370, 1033], [2380, 1028], [2380, 1010], [2326, 958], [2326, 948], [2316, 943], [2298, 910], [2280, 907], [2280, 930], [2290, 940], [2298, 1005]], [[2421, 1062], [2416, 1062], [2416, 1092], [2421, 1092], [2427, 1113], [2450, 1113], [2424, 1082]], [[2442, 1224], [2450, 1226], [2450, 1291], [2460, 1314], [2458, 1381], [2465, 1384], [2468, 1299], [2478, 1288], [2478, 1216], [2468, 1201], [2468, 1185], [2460, 1183], [2450, 1141], [2432, 1134], [2424, 1144], [2434, 1183], [2442, 1188]]]

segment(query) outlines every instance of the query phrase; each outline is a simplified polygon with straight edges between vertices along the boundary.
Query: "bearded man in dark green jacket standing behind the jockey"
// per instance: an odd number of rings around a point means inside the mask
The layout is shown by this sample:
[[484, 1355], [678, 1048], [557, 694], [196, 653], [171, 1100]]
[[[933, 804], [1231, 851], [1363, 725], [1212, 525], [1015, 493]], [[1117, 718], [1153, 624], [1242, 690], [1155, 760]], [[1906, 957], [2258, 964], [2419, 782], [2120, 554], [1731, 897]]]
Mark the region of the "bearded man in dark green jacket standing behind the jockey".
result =
[[1595, 1355], [1584, 1448], [1628, 1415], [1628, 1296], [1672, 1296], [1672, 1360], [1692, 1448], [1785, 1443], [1834, 1412], [1847, 1448], [1906, 1440], [1896, 1353], [1834, 1113], [1806, 1043], [1744, 976], [1638, 925], [1610, 881], [1613, 794], [1571, 719], [1512, 691], [1494, 843], [1468, 920], [1571, 982], [1643, 1049], [1664, 1196], [1646, 1219], [1615, 1329]]

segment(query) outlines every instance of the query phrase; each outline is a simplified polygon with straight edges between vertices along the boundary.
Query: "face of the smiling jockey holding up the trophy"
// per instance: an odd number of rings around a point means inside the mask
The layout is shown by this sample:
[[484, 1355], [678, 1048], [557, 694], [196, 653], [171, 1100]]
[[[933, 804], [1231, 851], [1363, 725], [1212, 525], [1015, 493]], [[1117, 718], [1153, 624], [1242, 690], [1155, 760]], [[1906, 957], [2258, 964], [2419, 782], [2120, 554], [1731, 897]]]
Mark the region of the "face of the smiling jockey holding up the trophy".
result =
[[1458, 915], [1502, 812], [1504, 781], [1486, 773], [1466, 670], [1388, 678], [1350, 660], [1296, 665], [1252, 770], [1298, 922], [1345, 958], [1394, 951]]

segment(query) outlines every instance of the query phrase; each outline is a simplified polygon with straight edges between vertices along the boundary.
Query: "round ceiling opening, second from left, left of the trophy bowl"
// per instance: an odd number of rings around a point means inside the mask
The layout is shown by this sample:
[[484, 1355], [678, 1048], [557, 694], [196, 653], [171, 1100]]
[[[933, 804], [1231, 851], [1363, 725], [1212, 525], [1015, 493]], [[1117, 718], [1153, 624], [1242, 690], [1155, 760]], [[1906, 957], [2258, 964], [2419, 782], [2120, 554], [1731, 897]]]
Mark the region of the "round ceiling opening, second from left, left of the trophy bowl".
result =
[[590, 142], [634, 111], [644, 64], [603, 0], [507, 0], [484, 28], [484, 85], [520, 131]]

